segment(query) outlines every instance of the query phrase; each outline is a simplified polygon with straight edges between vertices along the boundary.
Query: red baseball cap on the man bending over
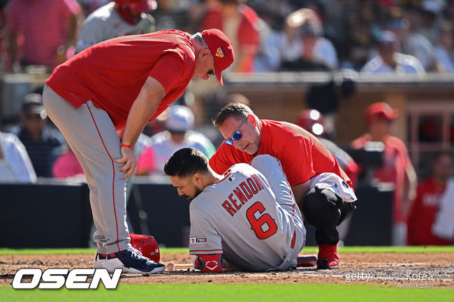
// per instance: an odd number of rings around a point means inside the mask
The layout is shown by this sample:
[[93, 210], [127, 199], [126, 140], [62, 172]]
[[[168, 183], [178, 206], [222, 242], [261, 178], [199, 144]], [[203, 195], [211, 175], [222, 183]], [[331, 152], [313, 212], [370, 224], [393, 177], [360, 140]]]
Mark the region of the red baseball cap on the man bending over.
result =
[[219, 29], [206, 29], [202, 31], [202, 37], [213, 56], [214, 73], [216, 73], [217, 80], [224, 86], [221, 72], [232, 65], [235, 59], [232, 43]]

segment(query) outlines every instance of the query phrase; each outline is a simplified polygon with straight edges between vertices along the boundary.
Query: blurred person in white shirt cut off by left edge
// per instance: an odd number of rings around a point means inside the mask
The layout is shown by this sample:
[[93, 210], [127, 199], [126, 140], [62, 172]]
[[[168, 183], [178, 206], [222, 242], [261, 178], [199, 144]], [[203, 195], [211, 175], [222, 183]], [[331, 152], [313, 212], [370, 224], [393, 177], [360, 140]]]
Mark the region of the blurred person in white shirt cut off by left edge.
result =
[[4, 181], [34, 183], [36, 173], [20, 139], [0, 132], [0, 182]]

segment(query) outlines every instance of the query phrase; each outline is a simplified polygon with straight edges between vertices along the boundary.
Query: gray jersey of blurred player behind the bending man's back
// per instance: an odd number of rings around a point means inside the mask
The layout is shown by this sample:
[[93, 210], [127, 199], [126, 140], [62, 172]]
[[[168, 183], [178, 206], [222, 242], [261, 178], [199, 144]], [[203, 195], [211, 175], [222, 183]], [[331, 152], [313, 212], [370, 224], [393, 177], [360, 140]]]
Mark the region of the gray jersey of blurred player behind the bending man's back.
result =
[[75, 53], [82, 52], [104, 40], [150, 33], [154, 31], [154, 28], [154, 19], [151, 15], [142, 13], [139, 22], [131, 24], [120, 17], [115, 10], [115, 2], [110, 2], [95, 10], [85, 19], [78, 43], [75, 45]]

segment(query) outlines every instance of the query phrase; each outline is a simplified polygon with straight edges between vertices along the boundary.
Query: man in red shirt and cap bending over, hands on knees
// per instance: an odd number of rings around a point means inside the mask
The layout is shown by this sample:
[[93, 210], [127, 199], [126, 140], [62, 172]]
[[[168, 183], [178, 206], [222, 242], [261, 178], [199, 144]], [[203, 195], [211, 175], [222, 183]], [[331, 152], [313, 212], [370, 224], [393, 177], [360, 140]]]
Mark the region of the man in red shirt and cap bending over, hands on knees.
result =
[[[124, 192], [137, 165], [134, 144], [145, 124], [177, 100], [191, 79], [216, 75], [222, 84], [221, 71], [232, 62], [232, 44], [217, 29], [193, 36], [157, 31], [89, 47], [45, 81], [47, 114], [80, 161], [90, 188], [95, 267], [129, 273], [165, 269], [130, 244]], [[117, 130], [123, 129], [120, 142]]]

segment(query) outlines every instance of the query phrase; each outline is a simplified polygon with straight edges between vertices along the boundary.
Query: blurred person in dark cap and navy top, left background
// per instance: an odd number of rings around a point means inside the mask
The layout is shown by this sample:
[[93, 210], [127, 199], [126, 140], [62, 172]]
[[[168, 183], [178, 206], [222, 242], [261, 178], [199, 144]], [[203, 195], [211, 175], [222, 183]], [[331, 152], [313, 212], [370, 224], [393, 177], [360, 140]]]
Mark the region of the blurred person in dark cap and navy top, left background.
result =
[[52, 151], [61, 146], [64, 139], [57, 130], [45, 125], [47, 114], [41, 94], [29, 93], [24, 97], [20, 117], [21, 125], [12, 132], [27, 149], [36, 176], [52, 177]]

